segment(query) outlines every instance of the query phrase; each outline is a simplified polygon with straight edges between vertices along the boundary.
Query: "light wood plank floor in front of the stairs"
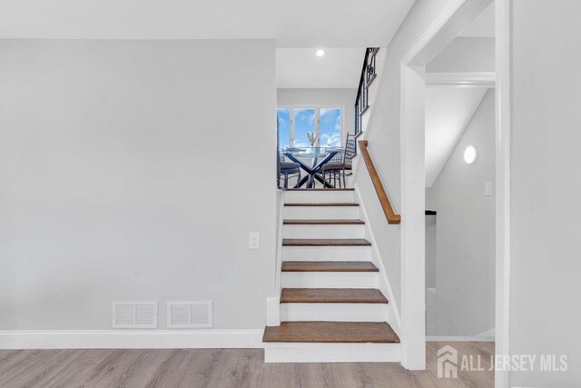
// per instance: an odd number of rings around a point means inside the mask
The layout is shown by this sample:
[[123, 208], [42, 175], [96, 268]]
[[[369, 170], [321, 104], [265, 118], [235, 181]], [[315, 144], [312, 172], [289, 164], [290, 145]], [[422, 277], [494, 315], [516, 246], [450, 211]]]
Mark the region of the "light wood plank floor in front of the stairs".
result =
[[492, 387], [494, 372], [438, 379], [437, 353], [481, 356], [494, 343], [427, 343], [426, 371], [399, 363], [264, 363], [261, 349], [93, 349], [0, 351], [0, 386], [16, 387]]

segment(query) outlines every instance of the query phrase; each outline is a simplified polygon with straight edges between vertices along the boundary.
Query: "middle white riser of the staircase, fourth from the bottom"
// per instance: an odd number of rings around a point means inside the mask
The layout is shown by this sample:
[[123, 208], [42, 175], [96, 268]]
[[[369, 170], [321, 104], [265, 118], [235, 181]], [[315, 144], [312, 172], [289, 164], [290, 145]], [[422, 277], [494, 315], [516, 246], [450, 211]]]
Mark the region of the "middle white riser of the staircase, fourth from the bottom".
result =
[[283, 246], [282, 261], [297, 262], [366, 262], [371, 259], [370, 246]]

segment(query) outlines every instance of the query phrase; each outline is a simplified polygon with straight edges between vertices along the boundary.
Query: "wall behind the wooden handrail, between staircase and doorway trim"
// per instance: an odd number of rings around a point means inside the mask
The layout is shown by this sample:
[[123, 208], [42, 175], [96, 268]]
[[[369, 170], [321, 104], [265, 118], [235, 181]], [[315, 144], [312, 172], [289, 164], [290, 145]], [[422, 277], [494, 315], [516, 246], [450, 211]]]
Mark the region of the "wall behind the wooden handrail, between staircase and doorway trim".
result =
[[[400, 174], [400, 70], [401, 60], [409, 49], [438, 17], [449, 0], [417, 0], [398, 33], [388, 46], [388, 55], [379, 84], [375, 107], [369, 118], [365, 138], [369, 153], [389, 195], [396, 213], [401, 210]], [[401, 301], [400, 227], [389, 225], [381, 210], [378, 196], [365, 164], [355, 166], [353, 183], [359, 186], [361, 197], [369, 214], [369, 225], [378, 238], [378, 249], [384, 262], [389, 283], [394, 293], [394, 303]], [[405, 220], [406, 214], [401, 214]], [[405, 222], [405, 221], [403, 221]]]

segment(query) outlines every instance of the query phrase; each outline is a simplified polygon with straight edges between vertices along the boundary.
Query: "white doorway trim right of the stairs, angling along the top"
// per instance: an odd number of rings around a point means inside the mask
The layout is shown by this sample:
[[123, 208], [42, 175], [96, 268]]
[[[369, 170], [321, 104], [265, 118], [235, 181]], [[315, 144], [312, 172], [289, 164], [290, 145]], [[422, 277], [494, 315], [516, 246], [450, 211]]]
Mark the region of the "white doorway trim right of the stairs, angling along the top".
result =
[[426, 365], [425, 65], [491, 2], [451, 0], [401, 60], [401, 363], [407, 369]]

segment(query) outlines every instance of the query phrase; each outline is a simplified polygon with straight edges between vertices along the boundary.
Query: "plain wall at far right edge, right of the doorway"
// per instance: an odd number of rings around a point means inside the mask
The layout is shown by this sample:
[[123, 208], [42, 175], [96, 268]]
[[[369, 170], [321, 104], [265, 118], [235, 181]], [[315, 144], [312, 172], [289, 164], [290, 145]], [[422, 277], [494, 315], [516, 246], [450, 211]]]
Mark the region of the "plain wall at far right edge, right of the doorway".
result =
[[510, 353], [566, 354], [567, 372], [512, 386], [581, 386], [581, 2], [512, 1]]

